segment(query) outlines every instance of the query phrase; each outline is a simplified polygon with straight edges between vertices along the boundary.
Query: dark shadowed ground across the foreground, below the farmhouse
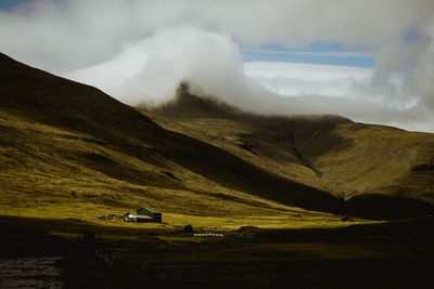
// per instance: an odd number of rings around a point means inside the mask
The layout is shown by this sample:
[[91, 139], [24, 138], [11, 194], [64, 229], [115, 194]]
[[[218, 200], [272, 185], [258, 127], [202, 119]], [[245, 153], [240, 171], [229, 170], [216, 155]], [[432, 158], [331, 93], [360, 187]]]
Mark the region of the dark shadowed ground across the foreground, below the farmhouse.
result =
[[[62, 257], [50, 259], [61, 270], [55, 280], [40, 275], [53, 288], [434, 286], [433, 218], [333, 229], [244, 227], [224, 232], [224, 237], [176, 229], [101, 228], [75, 220], [2, 216], [0, 223], [0, 264]], [[85, 232], [90, 233], [86, 238]], [[16, 283], [20, 275], [14, 275], [15, 283], [3, 275], [3, 288], [23, 284]]]

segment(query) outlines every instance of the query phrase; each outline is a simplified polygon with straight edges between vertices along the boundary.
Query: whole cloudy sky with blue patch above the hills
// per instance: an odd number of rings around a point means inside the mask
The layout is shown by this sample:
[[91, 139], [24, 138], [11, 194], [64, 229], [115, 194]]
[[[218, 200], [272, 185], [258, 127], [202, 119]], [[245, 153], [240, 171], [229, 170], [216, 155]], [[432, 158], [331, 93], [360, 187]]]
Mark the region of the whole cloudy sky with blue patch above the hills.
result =
[[129, 105], [187, 81], [248, 111], [434, 132], [432, 0], [0, 0], [0, 39]]

